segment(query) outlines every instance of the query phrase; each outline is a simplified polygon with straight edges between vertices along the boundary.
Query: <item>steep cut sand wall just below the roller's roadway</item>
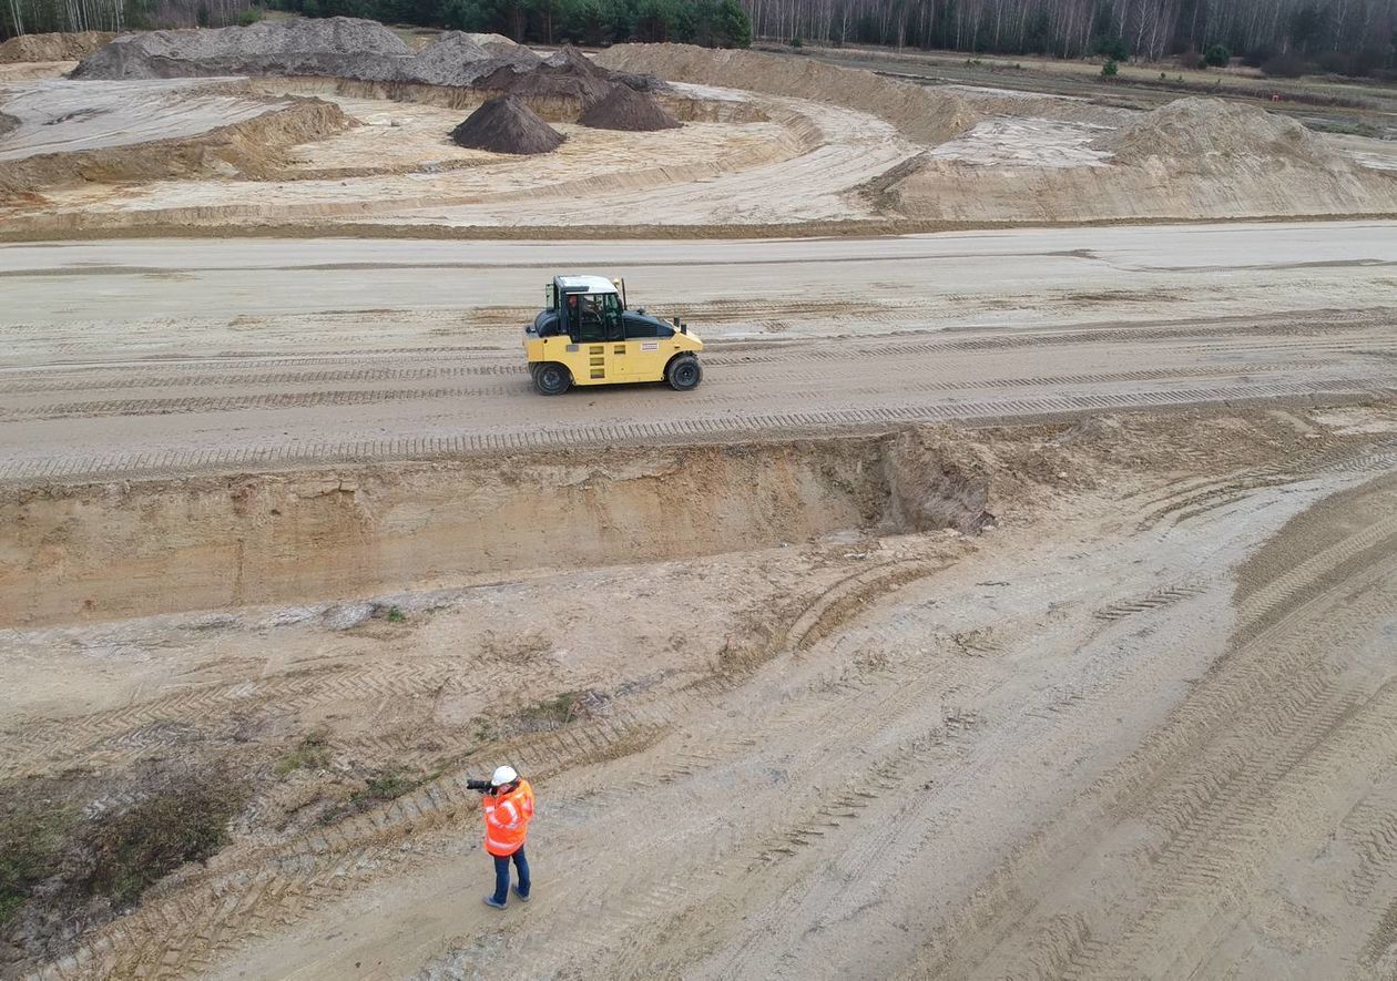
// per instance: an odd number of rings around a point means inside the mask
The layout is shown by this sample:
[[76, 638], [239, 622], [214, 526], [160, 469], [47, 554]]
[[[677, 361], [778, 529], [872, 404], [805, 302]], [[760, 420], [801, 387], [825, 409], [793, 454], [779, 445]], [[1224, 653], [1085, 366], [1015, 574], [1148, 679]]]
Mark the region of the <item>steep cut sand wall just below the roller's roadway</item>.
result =
[[0, 623], [372, 595], [983, 520], [919, 436], [0, 492]]

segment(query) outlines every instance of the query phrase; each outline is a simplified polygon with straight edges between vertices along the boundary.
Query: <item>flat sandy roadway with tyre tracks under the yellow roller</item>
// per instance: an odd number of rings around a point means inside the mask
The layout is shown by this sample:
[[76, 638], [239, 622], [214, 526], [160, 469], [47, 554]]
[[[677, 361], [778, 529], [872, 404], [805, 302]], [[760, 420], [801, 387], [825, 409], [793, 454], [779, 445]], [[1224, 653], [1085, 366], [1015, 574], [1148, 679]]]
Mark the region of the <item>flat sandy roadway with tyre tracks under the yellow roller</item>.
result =
[[[1380, 393], [1394, 242], [1373, 222], [6, 246], [4, 477]], [[714, 342], [704, 386], [536, 398], [515, 345], [560, 264], [685, 316]]]

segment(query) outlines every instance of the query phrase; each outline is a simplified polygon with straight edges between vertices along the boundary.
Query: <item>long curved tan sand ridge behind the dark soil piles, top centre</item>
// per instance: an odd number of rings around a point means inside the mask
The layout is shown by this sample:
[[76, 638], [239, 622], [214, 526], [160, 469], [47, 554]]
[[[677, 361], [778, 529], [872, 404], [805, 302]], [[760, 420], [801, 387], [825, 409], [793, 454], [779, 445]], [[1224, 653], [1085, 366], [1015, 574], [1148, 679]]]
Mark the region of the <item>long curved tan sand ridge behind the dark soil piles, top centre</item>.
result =
[[598, 54], [597, 63], [671, 81], [833, 102], [880, 116], [902, 136], [926, 144], [950, 140], [978, 122], [957, 95], [805, 57], [708, 50], [693, 45], [617, 45]]

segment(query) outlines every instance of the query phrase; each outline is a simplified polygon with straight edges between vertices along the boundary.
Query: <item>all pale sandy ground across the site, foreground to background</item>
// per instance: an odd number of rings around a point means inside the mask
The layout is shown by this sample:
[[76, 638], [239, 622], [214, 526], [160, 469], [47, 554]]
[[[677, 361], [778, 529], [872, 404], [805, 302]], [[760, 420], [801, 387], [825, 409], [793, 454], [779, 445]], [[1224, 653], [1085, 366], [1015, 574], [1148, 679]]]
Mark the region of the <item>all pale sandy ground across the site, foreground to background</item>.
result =
[[[1193, 183], [1122, 176], [1095, 98], [733, 57], [770, 75], [683, 130], [529, 161], [450, 144], [460, 92], [0, 66], [0, 159], [363, 123], [0, 224], [1366, 214], [1397, 170], [1206, 133]], [[735, 235], [0, 246], [0, 791], [250, 788], [0, 975], [1397, 977], [1397, 225]], [[683, 316], [703, 386], [535, 395], [559, 271]], [[503, 914], [502, 760], [541, 801]]]

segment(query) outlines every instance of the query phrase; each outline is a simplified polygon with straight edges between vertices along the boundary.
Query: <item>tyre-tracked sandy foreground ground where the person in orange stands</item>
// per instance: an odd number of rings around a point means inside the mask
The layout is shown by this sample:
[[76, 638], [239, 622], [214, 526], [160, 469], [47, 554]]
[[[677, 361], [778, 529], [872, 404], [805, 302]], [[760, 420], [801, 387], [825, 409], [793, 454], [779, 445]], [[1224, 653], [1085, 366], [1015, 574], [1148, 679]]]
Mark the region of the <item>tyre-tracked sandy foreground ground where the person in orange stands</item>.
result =
[[[788, 546], [664, 558], [637, 524], [610, 559], [631, 565], [10, 630], [7, 776], [261, 774], [229, 848], [59, 968], [1387, 977], [1394, 425], [1387, 404], [933, 430], [876, 453], [936, 495], [978, 474], [993, 531], [900, 532], [875, 496]], [[841, 513], [872, 451], [809, 447], [812, 513]], [[775, 484], [729, 482], [696, 530], [809, 492], [764, 453], [726, 447]], [[594, 470], [591, 493], [697, 514], [701, 472]], [[365, 477], [321, 481], [397, 524]], [[557, 693], [574, 710], [541, 715]], [[330, 763], [272, 777], [316, 727]], [[461, 784], [502, 759], [541, 802], [536, 896], [503, 914]], [[434, 776], [316, 820], [383, 762]]]

